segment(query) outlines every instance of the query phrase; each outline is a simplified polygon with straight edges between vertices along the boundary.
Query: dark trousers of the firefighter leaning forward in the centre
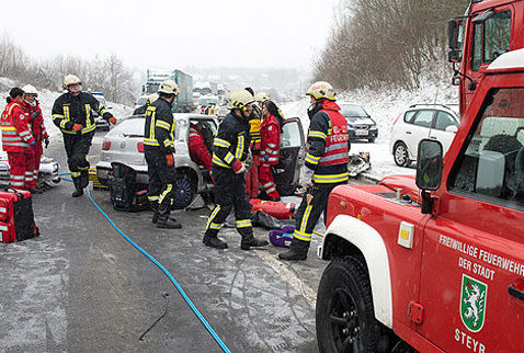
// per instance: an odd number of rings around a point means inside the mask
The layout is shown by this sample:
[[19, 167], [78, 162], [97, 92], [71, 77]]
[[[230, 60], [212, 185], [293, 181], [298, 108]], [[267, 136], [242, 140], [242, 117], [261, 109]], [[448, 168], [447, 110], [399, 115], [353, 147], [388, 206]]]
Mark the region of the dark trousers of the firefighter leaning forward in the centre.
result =
[[226, 217], [235, 207], [237, 231], [242, 238], [253, 236], [251, 204], [246, 196], [246, 175], [235, 174], [231, 169], [213, 166], [215, 178], [215, 208], [207, 218], [206, 237], [216, 237]]

